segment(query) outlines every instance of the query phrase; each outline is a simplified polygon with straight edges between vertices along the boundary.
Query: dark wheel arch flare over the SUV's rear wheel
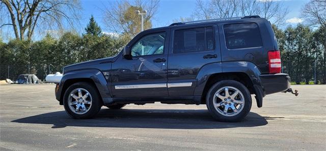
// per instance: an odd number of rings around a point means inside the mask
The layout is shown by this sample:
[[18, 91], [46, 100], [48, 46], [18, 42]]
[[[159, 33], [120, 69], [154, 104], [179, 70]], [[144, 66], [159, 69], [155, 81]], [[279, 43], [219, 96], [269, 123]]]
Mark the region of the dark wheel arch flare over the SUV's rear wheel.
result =
[[205, 103], [206, 93], [214, 83], [221, 80], [235, 80], [246, 86], [251, 94], [256, 95], [257, 106], [261, 107], [265, 92], [260, 84], [260, 74], [258, 67], [247, 61], [207, 64], [197, 75], [194, 95], [201, 95], [201, 101]]

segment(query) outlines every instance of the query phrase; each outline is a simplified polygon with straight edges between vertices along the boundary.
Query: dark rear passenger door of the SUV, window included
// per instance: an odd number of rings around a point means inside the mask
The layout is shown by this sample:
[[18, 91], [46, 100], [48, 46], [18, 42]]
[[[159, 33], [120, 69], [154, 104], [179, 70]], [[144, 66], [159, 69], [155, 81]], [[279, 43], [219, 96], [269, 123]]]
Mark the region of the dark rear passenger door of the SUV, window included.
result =
[[218, 35], [215, 24], [171, 29], [168, 61], [170, 96], [193, 96], [201, 67], [221, 62]]

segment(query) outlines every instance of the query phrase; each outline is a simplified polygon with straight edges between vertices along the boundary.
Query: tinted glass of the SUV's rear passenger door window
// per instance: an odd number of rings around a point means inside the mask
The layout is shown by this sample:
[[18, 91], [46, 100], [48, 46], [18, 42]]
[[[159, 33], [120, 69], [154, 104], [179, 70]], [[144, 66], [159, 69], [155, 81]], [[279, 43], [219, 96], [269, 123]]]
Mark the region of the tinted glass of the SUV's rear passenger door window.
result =
[[207, 51], [214, 49], [212, 27], [176, 30], [174, 32], [174, 53]]

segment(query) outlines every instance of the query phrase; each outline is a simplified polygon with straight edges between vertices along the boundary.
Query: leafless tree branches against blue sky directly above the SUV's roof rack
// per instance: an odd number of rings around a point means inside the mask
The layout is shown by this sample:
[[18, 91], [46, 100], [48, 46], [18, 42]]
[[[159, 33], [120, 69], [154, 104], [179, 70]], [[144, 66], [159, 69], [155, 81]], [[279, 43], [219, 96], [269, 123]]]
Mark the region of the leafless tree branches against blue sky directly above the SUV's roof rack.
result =
[[281, 2], [270, 0], [197, 0], [197, 19], [260, 15], [273, 24], [282, 24], [288, 9]]

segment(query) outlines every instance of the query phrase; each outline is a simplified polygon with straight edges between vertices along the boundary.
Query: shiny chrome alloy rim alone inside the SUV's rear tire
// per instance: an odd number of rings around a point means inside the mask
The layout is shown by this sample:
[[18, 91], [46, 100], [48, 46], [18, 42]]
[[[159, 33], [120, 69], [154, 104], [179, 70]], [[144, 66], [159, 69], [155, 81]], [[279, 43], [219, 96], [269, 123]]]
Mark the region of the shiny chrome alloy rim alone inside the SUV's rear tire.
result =
[[213, 105], [219, 114], [226, 117], [238, 115], [244, 106], [244, 97], [240, 90], [226, 86], [214, 94]]

